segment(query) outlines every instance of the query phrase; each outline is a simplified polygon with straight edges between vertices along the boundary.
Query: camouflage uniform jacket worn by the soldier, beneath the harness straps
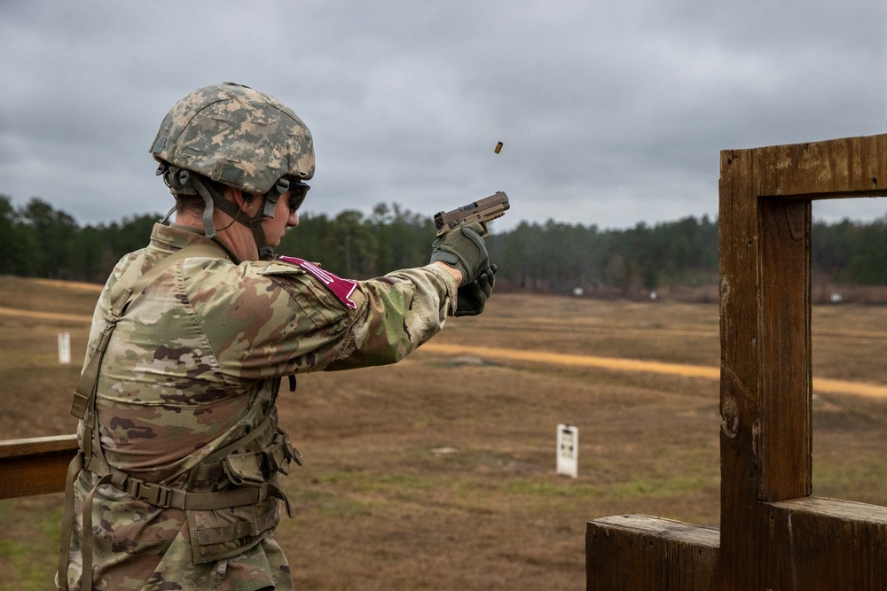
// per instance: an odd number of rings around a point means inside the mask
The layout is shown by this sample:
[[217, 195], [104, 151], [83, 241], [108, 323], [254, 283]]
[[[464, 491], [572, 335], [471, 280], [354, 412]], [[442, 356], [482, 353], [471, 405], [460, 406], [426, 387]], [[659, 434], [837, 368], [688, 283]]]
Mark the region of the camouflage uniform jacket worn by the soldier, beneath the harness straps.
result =
[[[124, 257], [109, 277], [93, 317], [87, 359], [105, 324], [110, 289], [123, 271], [138, 261], [144, 273], [170, 253], [206, 240], [191, 230], [156, 225], [147, 248]], [[342, 285], [349, 289], [337, 295]], [[149, 483], [188, 490], [230, 486], [224, 474], [196, 480], [194, 475], [214, 452], [260, 425], [259, 436], [238, 451], [269, 445], [277, 427], [280, 377], [397, 362], [441, 330], [454, 310], [456, 289], [451, 276], [435, 266], [352, 283], [310, 264], [279, 260], [177, 261], [131, 302], [107, 347], [95, 403], [106, 460]], [[95, 481], [83, 470], [75, 482], [71, 589], [79, 588], [82, 565], [82, 501]], [[287, 560], [271, 535], [277, 502], [269, 498], [270, 504], [257, 509], [268, 529], [239, 554], [200, 562], [189, 521], [200, 526], [200, 514], [211, 512], [162, 509], [100, 486], [92, 505], [94, 585], [292, 588]], [[208, 516], [210, 525], [218, 520], [217, 514]]]

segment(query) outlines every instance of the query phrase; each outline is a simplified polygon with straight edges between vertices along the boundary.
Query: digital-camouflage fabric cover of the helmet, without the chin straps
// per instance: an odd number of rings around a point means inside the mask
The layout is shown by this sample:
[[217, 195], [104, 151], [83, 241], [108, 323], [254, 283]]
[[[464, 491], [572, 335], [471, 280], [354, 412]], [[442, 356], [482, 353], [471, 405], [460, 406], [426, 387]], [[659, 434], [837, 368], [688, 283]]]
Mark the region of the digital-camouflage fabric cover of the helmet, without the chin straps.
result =
[[283, 176], [314, 175], [304, 122], [276, 98], [233, 82], [194, 90], [173, 105], [151, 153], [249, 193], [264, 194]]

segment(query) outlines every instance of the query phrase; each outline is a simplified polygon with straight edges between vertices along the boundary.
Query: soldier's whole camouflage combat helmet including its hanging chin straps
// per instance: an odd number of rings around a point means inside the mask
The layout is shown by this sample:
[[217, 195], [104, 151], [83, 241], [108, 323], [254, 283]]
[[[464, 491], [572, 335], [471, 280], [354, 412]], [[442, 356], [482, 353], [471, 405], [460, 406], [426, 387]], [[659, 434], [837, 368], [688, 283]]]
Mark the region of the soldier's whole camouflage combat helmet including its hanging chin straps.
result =
[[[207, 237], [216, 234], [215, 205], [252, 229], [263, 259], [273, 251], [262, 220], [274, 216], [283, 193], [307, 191], [303, 181], [314, 175], [314, 142], [304, 122], [276, 98], [233, 82], [194, 90], [173, 105], [151, 153], [173, 195], [203, 198]], [[263, 195], [264, 206], [255, 217], [244, 217], [206, 179]]]

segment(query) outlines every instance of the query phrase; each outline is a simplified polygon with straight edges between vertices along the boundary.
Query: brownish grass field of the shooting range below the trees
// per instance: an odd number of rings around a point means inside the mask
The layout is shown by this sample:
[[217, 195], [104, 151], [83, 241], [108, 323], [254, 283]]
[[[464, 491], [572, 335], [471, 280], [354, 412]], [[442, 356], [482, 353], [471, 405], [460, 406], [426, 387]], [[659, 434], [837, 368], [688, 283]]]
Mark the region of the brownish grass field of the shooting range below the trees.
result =
[[[0, 282], [0, 439], [75, 431], [96, 296]], [[887, 504], [887, 307], [816, 307], [813, 338], [813, 493]], [[277, 533], [296, 588], [579, 589], [588, 520], [718, 525], [719, 358], [717, 305], [497, 294], [398, 365], [300, 377], [279, 400], [305, 460]], [[0, 502], [0, 588], [51, 588], [60, 504]]]

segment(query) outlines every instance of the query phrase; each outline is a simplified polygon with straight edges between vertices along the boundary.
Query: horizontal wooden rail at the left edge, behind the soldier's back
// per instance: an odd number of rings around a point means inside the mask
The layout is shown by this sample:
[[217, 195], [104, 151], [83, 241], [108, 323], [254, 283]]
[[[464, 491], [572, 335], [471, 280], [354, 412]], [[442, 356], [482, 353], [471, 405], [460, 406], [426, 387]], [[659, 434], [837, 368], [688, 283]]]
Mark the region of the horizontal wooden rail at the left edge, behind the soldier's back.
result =
[[0, 499], [65, 490], [76, 435], [0, 441]]

